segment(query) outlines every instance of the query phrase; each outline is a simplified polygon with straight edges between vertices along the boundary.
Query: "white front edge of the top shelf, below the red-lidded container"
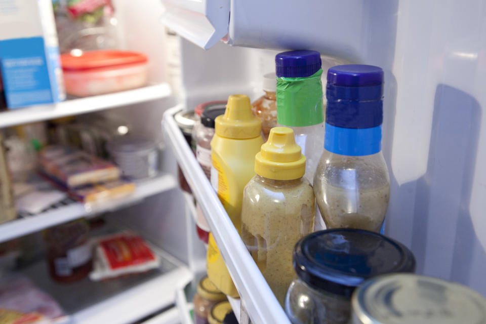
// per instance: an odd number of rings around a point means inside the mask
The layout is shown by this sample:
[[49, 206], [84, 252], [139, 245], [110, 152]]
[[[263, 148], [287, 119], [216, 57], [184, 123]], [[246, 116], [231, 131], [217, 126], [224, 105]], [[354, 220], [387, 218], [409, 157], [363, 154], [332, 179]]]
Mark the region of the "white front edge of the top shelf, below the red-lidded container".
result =
[[166, 98], [171, 93], [171, 87], [163, 83], [106, 95], [70, 99], [55, 104], [7, 110], [0, 112], [0, 128]]

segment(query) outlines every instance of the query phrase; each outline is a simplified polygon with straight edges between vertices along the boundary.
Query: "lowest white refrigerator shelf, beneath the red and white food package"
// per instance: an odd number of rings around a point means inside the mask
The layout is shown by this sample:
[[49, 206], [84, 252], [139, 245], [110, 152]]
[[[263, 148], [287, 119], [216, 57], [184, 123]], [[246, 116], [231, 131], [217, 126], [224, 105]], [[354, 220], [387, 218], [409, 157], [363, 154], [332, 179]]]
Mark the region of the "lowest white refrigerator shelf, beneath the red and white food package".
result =
[[[161, 264], [145, 273], [106, 281], [89, 278], [59, 284], [50, 278], [46, 261], [37, 262], [21, 272], [56, 299], [76, 324], [129, 324], [174, 305], [177, 292], [192, 279], [192, 272], [165, 251], [155, 249]], [[180, 312], [159, 315], [154, 323], [180, 322]], [[170, 317], [170, 318], [168, 318]], [[174, 317], [179, 320], [174, 321]]]

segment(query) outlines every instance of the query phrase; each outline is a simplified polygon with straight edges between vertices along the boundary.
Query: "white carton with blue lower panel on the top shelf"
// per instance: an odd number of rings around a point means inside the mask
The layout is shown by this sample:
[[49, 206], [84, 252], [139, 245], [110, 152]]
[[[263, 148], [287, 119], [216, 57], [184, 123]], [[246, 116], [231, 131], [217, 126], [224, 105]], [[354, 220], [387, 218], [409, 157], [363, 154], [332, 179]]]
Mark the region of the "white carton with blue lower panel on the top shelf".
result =
[[10, 109], [65, 98], [52, 3], [2, 1], [0, 69]]

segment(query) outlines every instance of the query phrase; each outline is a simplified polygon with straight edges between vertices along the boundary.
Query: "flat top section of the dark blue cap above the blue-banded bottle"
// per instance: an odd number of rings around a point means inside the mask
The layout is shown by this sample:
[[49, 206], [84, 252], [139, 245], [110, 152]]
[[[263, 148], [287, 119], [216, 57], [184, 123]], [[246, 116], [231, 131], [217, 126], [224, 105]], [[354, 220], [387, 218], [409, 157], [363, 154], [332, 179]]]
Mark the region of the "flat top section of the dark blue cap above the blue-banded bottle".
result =
[[374, 65], [336, 65], [328, 70], [328, 84], [341, 87], [368, 87], [383, 84], [383, 69]]

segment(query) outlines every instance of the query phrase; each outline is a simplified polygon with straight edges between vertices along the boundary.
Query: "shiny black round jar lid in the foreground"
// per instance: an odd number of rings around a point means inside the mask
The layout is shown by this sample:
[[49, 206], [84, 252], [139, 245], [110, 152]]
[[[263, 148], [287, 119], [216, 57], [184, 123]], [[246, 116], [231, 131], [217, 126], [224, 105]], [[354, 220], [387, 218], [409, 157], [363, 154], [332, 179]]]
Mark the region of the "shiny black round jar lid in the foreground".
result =
[[414, 272], [415, 257], [399, 242], [360, 229], [314, 232], [294, 249], [294, 268], [311, 287], [350, 298], [368, 278], [394, 272]]

